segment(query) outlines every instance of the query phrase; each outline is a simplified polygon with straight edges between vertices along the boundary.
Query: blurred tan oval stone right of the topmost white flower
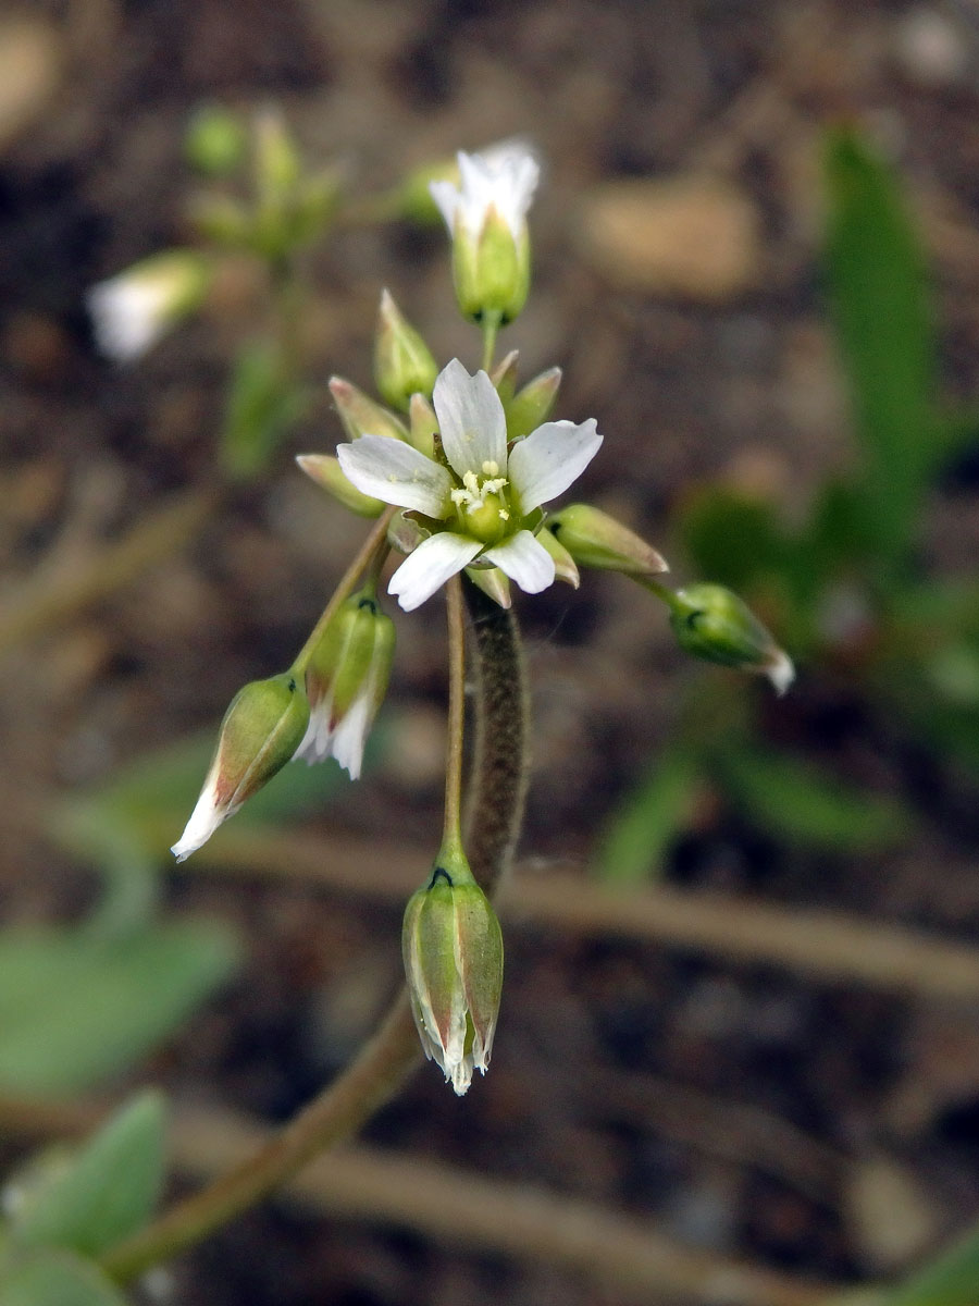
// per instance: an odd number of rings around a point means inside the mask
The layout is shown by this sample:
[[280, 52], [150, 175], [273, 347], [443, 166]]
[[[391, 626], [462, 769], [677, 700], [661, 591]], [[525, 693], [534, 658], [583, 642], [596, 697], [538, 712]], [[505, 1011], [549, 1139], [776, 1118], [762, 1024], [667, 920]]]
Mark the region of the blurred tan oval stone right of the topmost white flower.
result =
[[582, 255], [623, 290], [723, 300], [758, 279], [760, 217], [713, 178], [612, 182], [582, 205]]

